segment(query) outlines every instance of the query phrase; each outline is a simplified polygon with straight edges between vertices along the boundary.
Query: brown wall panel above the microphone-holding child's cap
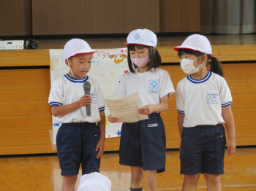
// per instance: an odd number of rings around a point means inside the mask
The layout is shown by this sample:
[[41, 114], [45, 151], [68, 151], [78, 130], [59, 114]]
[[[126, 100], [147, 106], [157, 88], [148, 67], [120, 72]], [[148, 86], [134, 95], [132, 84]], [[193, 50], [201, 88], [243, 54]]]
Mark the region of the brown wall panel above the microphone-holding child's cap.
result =
[[94, 0], [32, 1], [33, 35], [96, 34]]

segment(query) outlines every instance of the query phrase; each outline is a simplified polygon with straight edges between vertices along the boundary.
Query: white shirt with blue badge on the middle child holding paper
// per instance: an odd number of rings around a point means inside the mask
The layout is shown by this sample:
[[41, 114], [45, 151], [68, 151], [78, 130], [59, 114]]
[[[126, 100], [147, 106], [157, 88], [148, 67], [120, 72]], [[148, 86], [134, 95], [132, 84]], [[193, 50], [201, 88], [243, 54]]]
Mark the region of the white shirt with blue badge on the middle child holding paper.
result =
[[116, 90], [116, 97], [124, 98], [132, 93], [140, 94], [143, 106], [148, 104], [160, 104], [160, 98], [175, 92], [173, 83], [167, 71], [162, 69], [151, 69], [140, 73], [135, 69], [121, 77], [120, 85]]

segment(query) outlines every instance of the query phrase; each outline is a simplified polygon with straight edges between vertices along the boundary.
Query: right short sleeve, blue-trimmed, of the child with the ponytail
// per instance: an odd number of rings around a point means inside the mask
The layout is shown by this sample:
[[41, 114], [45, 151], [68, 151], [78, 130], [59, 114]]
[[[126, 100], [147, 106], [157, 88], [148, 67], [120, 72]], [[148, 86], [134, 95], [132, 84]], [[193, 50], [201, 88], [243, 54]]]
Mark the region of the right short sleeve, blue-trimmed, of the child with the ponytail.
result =
[[222, 104], [222, 107], [230, 106], [232, 101], [232, 96], [230, 92], [230, 88], [227, 85], [226, 80], [223, 78], [222, 82], [220, 83], [220, 92], [219, 92], [219, 99]]

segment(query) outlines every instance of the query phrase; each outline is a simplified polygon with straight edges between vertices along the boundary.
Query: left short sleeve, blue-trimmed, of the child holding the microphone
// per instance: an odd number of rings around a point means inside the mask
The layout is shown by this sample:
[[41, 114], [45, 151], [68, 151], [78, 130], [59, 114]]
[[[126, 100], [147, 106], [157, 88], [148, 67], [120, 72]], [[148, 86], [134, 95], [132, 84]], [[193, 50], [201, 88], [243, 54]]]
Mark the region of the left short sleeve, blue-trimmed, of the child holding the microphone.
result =
[[61, 88], [60, 80], [56, 80], [50, 87], [50, 95], [48, 99], [48, 104], [52, 106], [63, 105], [63, 90]]

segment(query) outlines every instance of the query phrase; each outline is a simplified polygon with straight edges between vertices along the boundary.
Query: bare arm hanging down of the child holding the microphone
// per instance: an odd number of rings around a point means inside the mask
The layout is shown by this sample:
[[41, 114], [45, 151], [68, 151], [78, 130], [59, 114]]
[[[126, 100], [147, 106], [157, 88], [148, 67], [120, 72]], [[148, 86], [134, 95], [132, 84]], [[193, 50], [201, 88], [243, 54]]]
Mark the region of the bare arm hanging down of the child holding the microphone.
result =
[[105, 112], [99, 112], [99, 116], [102, 119], [98, 124], [99, 124], [99, 130], [100, 130], [100, 138], [97, 143], [97, 146], [95, 150], [97, 151], [99, 149], [97, 158], [101, 157], [104, 152], [104, 144], [105, 144], [105, 123], [106, 123], [106, 118], [105, 118]]

